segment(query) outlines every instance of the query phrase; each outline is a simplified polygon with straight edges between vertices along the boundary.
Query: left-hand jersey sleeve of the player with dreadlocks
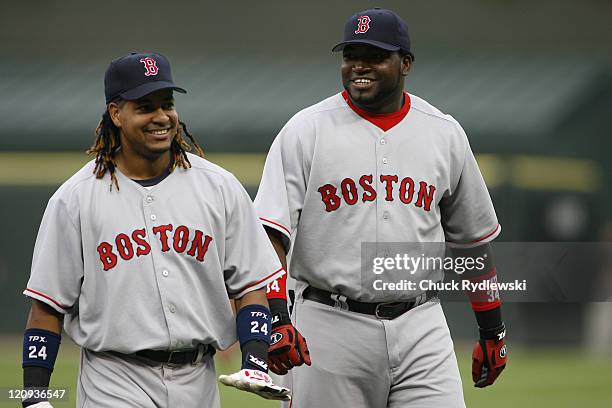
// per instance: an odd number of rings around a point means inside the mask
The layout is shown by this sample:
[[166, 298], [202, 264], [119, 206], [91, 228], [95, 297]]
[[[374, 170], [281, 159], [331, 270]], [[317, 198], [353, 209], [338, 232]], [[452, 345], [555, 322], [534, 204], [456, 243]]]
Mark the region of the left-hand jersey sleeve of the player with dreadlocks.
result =
[[[56, 193], [57, 194], [57, 193]], [[60, 313], [71, 312], [81, 292], [83, 252], [77, 211], [49, 200], [38, 231], [30, 279], [23, 294]]]

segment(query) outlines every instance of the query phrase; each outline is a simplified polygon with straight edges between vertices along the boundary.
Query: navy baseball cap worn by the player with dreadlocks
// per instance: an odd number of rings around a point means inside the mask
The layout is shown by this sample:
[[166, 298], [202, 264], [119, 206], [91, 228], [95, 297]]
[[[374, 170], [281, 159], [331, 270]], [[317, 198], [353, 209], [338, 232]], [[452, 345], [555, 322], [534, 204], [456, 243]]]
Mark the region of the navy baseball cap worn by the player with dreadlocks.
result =
[[133, 101], [160, 89], [187, 93], [174, 84], [170, 62], [158, 53], [132, 52], [111, 61], [104, 74], [106, 103], [121, 98]]

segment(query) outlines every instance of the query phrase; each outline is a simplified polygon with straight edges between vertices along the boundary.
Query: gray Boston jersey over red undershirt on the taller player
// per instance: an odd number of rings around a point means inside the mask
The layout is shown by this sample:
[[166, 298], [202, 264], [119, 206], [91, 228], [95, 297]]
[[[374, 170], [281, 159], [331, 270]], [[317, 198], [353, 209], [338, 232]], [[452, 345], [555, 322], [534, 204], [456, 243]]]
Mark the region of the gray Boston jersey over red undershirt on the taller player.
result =
[[[255, 207], [280, 231], [298, 281], [376, 302], [362, 242], [486, 242], [500, 232], [459, 123], [423, 99], [388, 131], [336, 94], [297, 113], [270, 148]], [[414, 295], [414, 294], [411, 294]]]

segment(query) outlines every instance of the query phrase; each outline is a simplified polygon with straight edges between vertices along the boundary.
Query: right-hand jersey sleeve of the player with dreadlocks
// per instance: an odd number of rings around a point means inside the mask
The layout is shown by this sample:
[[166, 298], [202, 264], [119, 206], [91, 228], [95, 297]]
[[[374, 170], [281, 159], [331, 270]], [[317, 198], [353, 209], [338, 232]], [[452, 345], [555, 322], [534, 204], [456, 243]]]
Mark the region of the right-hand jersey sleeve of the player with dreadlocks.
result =
[[284, 273], [251, 198], [235, 180], [226, 208], [224, 278], [230, 298], [265, 287]]

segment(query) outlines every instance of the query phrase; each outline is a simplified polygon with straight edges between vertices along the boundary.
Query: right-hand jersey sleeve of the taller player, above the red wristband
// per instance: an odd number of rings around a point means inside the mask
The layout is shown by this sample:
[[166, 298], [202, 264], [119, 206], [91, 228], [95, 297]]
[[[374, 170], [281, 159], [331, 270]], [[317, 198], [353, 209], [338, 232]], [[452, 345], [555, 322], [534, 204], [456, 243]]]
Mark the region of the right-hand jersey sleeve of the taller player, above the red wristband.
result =
[[474, 245], [493, 240], [501, 231], [491, 196], [467, 136], [459, 124], [459, 159], [451, 168], [451, 188], [441, 202], [442, 226], [450, 244]]

